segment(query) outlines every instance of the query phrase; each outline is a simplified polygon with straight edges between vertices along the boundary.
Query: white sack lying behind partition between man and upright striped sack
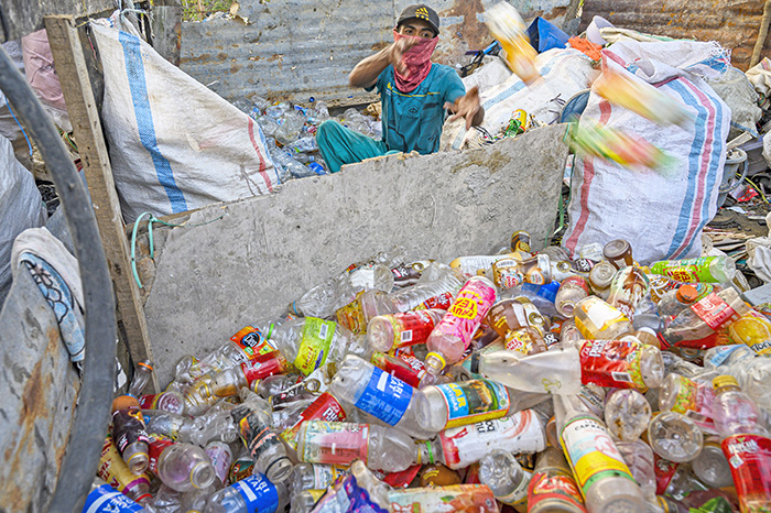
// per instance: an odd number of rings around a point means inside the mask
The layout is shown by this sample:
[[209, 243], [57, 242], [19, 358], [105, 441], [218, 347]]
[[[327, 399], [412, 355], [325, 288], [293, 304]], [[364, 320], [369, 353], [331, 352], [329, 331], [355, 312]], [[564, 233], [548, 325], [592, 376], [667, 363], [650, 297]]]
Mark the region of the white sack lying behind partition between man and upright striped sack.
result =
[[[481, 127], [490, 134], [496, 135], [504, 129], [518, 109], [523, 109], [540, 123], [557, 122], [565, 102], [576, 92], [588, 89], [599, 75], [591, 66], [591, 59], [575, 48], [553, 48], [539, 54], [535, 67], [543, 80], [530, 87], [514, 74], [497, 86], [480, 87], [479, 101], [485, 108]], [[480, 72], [484, 73], [484, 68], [477, 70]], [[464, 78], [467, 90], [477, 85], [475, 75]], [[439, 149], [461, 150], [481, 144], [480, 132], [467, 131], [465, 120], [460, 119], [445, 123]]]

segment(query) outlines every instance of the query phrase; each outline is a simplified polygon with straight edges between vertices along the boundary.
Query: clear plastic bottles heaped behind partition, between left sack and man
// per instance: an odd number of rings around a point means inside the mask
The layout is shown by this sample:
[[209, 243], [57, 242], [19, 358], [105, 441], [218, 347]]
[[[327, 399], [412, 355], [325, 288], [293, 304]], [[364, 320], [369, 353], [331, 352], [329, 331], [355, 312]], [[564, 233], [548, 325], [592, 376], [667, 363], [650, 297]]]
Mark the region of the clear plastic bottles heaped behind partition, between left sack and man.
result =
[[326, 103], [313, 98], [312, 108], [293, 106], [289, 101], [271, 103], [259, 96], [240, 98], [234, 105], [262, 129], [281, 183], [329, 174], [316, 144], [316, 129], [328, 119], [335, 119], [344, 127], [367, 137], [381, 139], [379, 119], [366, 116], [355, 108], [332, 118]]

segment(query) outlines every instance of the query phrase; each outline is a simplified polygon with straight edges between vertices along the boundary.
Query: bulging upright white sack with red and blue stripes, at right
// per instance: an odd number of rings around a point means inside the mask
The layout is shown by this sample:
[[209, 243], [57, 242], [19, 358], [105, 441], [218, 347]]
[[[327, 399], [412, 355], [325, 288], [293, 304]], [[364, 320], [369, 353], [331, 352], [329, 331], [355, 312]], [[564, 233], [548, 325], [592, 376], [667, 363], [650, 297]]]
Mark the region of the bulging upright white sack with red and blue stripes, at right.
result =
[[577, 157], [563, 245], [575, 254], [591, 242], [627, 239], [643, 264], [698, 256], [702, 229], [717, 211], [731, 121], [730, 109], [705, 78], [730, 67], [728, 52], [717, 43], [622, 41], [602, 51], [602, 66], [652, 84], [683, 103], [693, 122], [660, 127], [593, 91], [580, 123], [637, 134], [674, 157], [676, 165], [660, 174]]

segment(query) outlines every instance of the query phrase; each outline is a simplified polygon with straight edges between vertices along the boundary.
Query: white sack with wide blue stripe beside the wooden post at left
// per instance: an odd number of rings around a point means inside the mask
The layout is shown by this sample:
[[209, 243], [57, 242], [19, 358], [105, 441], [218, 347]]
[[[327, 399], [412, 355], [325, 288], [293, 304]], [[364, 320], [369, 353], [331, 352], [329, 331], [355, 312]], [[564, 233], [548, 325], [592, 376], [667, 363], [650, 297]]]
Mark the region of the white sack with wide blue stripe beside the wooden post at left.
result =
[[134, 34], [91, 22], [105, 73], [101, 119], [123, 218], [268, 194], [259, 125]]

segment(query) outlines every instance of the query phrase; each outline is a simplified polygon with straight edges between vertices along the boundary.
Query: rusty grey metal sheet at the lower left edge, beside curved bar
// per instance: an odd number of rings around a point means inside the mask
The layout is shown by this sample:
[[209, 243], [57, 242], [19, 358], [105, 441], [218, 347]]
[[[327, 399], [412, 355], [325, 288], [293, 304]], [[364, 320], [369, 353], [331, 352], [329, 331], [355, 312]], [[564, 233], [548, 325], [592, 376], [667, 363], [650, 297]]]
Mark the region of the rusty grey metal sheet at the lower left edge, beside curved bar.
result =
[[48, 511], [79, 381], [56, 317], [26, 271], [0, 313], [0, 510]]

